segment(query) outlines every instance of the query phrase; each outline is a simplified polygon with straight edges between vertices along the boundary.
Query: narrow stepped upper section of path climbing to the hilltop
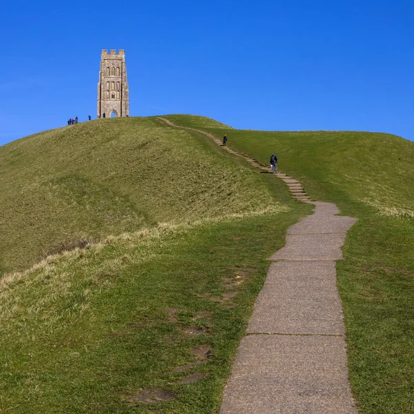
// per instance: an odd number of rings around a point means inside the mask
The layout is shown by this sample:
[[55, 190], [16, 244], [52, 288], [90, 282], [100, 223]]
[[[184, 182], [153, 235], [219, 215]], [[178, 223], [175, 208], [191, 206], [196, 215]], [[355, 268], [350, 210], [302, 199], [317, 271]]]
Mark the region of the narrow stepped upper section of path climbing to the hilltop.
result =
[[[213, 141], [215, 141], [215, 143], [217, 145], [221, 146], [221, 148], [223, 148], [227, 152], [230, 152], [230, 154], [233, 154], [236, 157], [240, 157], [240, 158], [245, 159], [246, 161], [248, 161], [249, 164], [251, 164], [252, 166], [254, 166], [256, 168], [259, 168], [260, 170], [262, 170], [264, 172], [268, 172], [268, 173], [272, 172], [271, 168], [266, 167], [263, 164], [260, 164], [259, 161], [257, 161], [256, 159], [253, 159], [253, 158], [249, 157], [246, 154], [242, 154], [242, 152], [233, 150], [232, 148], [230, 148], [228, 146], [221, 145], [221, 140], [219, 138], [215, 137], [215, 135], [210, 134], [209, 132], [206, 132], [204, 130], [199, 130], [199, 129], [196, 129], [196, 128], [190, 128], [188, 126], [176, 125], [176, 124], [173, 124], [169, 119], [166, 119], [166, 118], [163, 118], [163, 117], [157, 117], [157, 119], [159, 119], [161, 121], [164, 121], [169, 126], [172, 126], [172, 127], [175, 127], [175, 128], [181, 128], [181, 129], [185, 129], [185, 130], [199, 132], [200, 134], [206, 135], [206, 137], [213, 139]], [[298, 199], [299, 201], [303, 201], [303, 202], [311, 201], [311, 198], [308, 197], [308, 195], [306, 195], [306, 192], [305, 192], [304, 188], [302, 187], [302, 184], [299, 183], [299, 181], [293, 179], [292, 177], [288, 177], [288, 175], [286, 175], [282, 172], [278, 172], [276, 174], [276, 176], [279, 177], [280, 179], [282, 179], [288, 185], [289, 191], [295, 199]]]

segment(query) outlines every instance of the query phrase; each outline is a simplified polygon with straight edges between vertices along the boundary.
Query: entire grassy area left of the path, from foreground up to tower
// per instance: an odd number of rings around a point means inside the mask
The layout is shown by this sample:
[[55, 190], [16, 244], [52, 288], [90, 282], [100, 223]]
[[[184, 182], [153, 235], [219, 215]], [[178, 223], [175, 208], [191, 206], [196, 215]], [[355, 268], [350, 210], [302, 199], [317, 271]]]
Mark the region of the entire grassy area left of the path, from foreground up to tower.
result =
[[[43, 132], [0, 157], [15, 200], [1, 196], [7, 268], [33, 262], [39, 244], [101, 240], [0, 280], [0, 411], [218, 412], [266, 259], [310, 206], [210, 139], [155, 119]], [[200, 345], [208, 359], [174, 371], [197, 362]], [[189, 373], [206, 377], [173, 384]], [[172, 400], [140, 404], [140, 388]]]

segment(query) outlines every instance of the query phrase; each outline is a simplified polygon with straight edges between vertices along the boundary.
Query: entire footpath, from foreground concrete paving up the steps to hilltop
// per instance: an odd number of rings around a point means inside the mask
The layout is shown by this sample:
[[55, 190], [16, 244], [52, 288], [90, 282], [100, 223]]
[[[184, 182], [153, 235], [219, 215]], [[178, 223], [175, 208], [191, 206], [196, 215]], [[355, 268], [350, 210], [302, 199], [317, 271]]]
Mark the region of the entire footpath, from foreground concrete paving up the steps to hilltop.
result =
[[[221, 144], [203, 130], [158, 119]], [[256, 159], [223, 148], [270, 172]], [[286, 246], [270, 257], [273, 263], [240, 342], [220, 414], [357, 414], [335, 270], [356, 219], [336, 216], [335, 204], [311, 201], [299, 181], [281, 173], [277, 177], [293, 197], [314, 204], [315, 213], [291, 226]]]

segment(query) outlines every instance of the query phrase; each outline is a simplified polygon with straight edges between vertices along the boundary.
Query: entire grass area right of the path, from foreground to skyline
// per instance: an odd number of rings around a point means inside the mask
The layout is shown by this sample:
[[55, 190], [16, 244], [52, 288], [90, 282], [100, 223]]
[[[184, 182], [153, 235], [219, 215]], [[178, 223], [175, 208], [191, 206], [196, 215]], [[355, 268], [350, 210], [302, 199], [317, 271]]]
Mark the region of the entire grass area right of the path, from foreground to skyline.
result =
[[[185, 117], [175, 121], [187, 126]], [[204, 128], [358, 217], [338, 262], [351, 384], [361, 413], [414, 413], [414, 143], [370, 132]]]

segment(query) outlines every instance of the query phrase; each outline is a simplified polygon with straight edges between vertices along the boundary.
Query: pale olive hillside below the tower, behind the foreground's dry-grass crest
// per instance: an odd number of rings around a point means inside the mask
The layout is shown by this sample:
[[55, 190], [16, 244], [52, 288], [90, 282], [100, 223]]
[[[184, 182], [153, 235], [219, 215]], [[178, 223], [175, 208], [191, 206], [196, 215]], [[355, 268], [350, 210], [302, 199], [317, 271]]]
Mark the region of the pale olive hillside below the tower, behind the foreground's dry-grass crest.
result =
[[25, 268], [77, 239], [242, 212], [266, 198], [256, 183], [156, 119], [102, 119], [19, 139], [0, 148], [0, 268]]

